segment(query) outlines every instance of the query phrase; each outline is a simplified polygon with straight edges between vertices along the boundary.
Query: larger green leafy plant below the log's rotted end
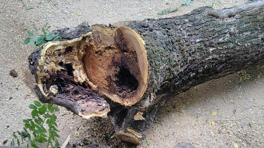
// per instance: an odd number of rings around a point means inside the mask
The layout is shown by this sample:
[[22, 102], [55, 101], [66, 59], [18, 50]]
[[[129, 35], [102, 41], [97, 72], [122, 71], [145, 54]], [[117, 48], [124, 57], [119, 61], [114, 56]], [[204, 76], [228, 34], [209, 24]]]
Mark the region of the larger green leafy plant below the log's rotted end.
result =
[[[30, 104], [29, 108], [32, 109], [31, 116], [32, 118], [26, 118], [22, 120], [24, 123], [24, 132], [21, 133], [17, 131], [13, 133], [13, 138], [10, 143], [10, 146], [15, 146], [15, 141], [18, 147], [21, 143], [23, 143], [23, 135], [26, 134], [26, 137], [29, 140], [27, 147], [29, 146], [33, 148], [38, 148], [38, 143], [47, 142], [47, 147], [55, 147], [59, 146], [57, 138], [59, 135], [57, 132], [58, 125], [56, 123], [57, 117], [55, 112], [59, 112], [58, 106], [53, 106], [52, 104], [41, 103], [39, 101], [34, 101], [34, 104]], [[46, 129], [44, 123], [48, 128]], [[19, 138], [21, 137], [21, 138]], [[20, 140], [19, 140], [20, 139]]]

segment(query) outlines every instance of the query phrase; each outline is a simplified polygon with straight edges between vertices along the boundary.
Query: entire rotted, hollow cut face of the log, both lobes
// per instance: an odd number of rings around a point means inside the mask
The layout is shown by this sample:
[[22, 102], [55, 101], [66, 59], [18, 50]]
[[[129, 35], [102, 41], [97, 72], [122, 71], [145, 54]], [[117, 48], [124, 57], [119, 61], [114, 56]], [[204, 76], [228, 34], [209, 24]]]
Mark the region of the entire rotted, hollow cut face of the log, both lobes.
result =
[[70, 108], [83, 118], [107, 116], [106, 97], [131, 106], [147, 87], [148, 62], [141, 36], [128, 27], [92, 28], [79, 38], [47, 43], [37, 71], [44, 101]]

